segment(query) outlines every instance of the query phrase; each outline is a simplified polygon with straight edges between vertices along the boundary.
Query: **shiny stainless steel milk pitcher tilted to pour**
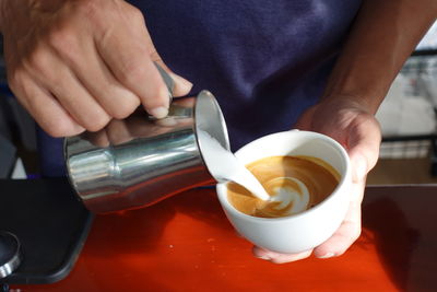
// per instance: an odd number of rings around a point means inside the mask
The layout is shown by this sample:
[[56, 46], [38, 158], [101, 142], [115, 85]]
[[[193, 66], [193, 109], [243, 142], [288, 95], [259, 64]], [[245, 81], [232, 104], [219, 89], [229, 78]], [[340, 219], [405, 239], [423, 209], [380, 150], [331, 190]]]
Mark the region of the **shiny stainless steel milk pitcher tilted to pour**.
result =
[[223, 114], [208, 91], [173, 101], [164, 119], [138, 110], [98, 132], [66, 138], [70, 183], [97, 213], [150, 206], [212, 183], [199, 130], [229, 149]]

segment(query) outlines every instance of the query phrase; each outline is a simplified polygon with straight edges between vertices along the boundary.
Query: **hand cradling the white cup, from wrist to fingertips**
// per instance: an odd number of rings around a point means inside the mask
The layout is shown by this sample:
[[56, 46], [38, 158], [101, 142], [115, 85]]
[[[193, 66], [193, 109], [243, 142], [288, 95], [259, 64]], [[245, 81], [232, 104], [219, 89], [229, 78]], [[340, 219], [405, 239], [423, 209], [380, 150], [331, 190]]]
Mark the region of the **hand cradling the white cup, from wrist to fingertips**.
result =
[[323, 100], [304, 113], [295, 128], [330, 136], [346, 149], [352, 165], [351, 205], [339, 230], [312, 250], [286, 255], [253, 247], [256, 257], [276, 264], [303, 259], [312, 253], [318, 258], [340, 256], [358, 238], [366, 176], [378, 160], [381, 141], [379, 124], [374, 115], [347, 98]]

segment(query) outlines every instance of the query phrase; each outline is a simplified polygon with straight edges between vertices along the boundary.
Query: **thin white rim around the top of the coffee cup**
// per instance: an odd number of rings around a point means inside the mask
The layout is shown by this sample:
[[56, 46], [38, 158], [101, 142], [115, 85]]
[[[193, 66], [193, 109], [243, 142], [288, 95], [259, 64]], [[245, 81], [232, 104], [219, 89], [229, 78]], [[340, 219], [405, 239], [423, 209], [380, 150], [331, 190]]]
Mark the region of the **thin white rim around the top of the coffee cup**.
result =
[[[246, 213], [237, 210], [227, 200], [227, 191], [226, 191], [226, 189], [227, 189], [227, 184], [229, 184], [229, 182], [223, 182], [223, 183], [218, 183], [216, 185], [215, 189], [216, 189], [216, 192], [217, 192], [218, 200], [221, 201], [221, 205], [222, 205], [222, 207], [224, 209], [226, 209], [228, 212], [232, 212], [234, 215], [236, 215], [238, 218], [241, 218], [241, 219], [245, 219], [245, 220], [248, 220], [248, 221], [257, 221], [257, 222], [263, 221], [263, 222], [272, 222], [273, 223], [273, 222], [279, 222], [279, 221], [297, 220], [297, 219], [303, 218], [303, 217], [308, 217], [311, 213], [316, 212], [318, 209], [323, 208], [326, 205], [329, 203], [329, 201], [331, 201], [333, 199], [333, 197], [334, 197], [333, 195], [336, 194], [340, 190], [340, 188], [342, 188], [342, 187], [344, 187], [346, 185], [345, 182], [351, 179], [351, 162], [350, 162], [350, 157], [349, 157], [349, 154], [347, 154], [346, 150], [338, 141], [335, 141], [334, 139], [332, 139], [331, 137], [329, 137], [327, 135], [322, 135], [322, 133], [315, 132], [315, 131], [304, 131], [304, 130], [298, 130], [298, 129], [292, 129], [292, 130], [288, 130], [288, 131], [275, 132], [275, 133], [263, 136], [263, 137], [261, 137], [259, 139], [256, 139], [253, 141], [251, 141], [250, 143], [241, 147], [240, 149], [238, 149], [235, 152], [235, 155], [238, 155], [238, 153], [245, 151], [245, 149], [251, 147], [251, 144], [253, 144], [253, 143], [258, 143], [258, 142], [260, 142], [262, 140], [271, 139], [271, 137], [274, 137], [274, 136], [296, 135], [296, 132], [299, 132], [299, 135], [300, 133], [311, 135], [312, 137], [320, 138], [322, 140], [329, 141], [330, 143], [332, 143], [335, 147], [335, 149], [344, 157], [342, 163], [344, 164], [345, 171], [344, 171], [344, 174], [341, 175], [341, 179], [339, 180], [339, 184], [336, 185], [334, 190], [327, 198], [324, 198], [321, 202], [319, 202], [318, 205], [316, 205], [316, 206], [311, 207], [310, 209], [307, 209], [307, 210], [305, 210], [303, 212], [299, 212], [297, 214], [291, 214], [291, 215], [286, 215], [286, 217], [276, 217], [276, 218], [262, 218], [262, 217], [249, 215], [249, 214], [246, 214]], [[267, 157], [267, 156], [264, 156], [264, 157]], [[262, 157], [257, 157], [256, 160], [260, 160], [260, 159], [262, 159]], [[253, 160], [253, 161], [256, 161], [256, 160]]]

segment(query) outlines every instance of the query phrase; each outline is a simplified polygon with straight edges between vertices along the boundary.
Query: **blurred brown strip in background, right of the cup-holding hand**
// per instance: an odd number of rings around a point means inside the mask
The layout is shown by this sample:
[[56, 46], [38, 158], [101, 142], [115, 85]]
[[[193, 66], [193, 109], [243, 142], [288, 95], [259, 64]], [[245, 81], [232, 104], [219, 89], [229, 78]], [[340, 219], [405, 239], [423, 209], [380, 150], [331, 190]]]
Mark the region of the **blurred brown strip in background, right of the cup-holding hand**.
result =
[[430, 159], [381, 159], [367, 176], [367, 185], [437, 184]]

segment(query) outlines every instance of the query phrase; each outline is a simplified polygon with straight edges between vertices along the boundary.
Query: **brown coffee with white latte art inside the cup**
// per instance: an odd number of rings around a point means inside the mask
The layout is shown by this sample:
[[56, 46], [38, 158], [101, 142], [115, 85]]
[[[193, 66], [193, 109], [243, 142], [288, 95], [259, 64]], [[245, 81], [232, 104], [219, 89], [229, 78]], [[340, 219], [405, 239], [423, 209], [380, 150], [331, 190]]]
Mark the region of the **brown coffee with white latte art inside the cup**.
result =
[[227, 198], [237, 210], [253, 217], [287, 217], [308, 210], [332, 194], [340, 182], [331, 165], [310, 156], [270, 156], [246, 167], [271, 199], [260, 200], [235, 183], [228, 184]]

